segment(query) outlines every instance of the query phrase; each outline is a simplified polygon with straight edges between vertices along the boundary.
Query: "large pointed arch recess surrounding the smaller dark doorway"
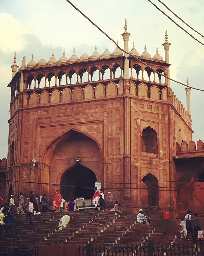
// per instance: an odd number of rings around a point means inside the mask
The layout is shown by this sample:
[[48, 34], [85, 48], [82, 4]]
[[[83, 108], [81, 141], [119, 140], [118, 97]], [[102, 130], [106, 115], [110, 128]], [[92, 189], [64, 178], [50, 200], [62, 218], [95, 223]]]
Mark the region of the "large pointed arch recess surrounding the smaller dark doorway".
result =
[[[79, 159], [79, 161], [76, 159]], [[66, 183], [66, 179], [65, 181], [63, 180], [66, 174], [69, 180], [68, 183], [80, 183], [80, 177], [68, 175], [71, 173], [69, 172], [70, 170], [72, 172], [74, 170], [77, 171], [75, 166], [79, 165], [76, 164], [80, 164], [81, 166], [80, 171], [78, 170], [81, 173], [81, 177], [83, 176], [83, 170], [87, 175], [89, 175], [89, 171], [87, 170], [90, 170], [90, 177], [94, 177], [95, 181], [103, 182], [101, 148], [93, 138], [76, 129], [70, 129], [52, 141], [46, 148], [42, 162], [44, 167], [42, 168], [41, 181], [43, 183], [48, 183], [49, 181], [49, 184], [52, 184], [44, 185], [44, 188], [42, 188], [44, 191], [42, 193], [49, 193], [53, 199], [55, 197], [55, 190], [60, 190], [62, 183]], [[73, 178], [71, 182], [70, 177]], [[66, 196], [72, 197], [78, 195], [72, 189]], [[67, 198], [67, 200], [70, 199]]]

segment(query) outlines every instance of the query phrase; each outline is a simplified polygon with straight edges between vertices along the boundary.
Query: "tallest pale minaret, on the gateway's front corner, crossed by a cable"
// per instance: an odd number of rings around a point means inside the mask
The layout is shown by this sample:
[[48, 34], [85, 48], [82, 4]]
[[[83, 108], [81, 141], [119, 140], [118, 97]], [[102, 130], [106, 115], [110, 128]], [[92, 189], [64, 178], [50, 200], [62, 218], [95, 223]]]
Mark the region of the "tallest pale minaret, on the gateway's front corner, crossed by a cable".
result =
[[[128, 51], [128, 40], [130, 37], [130, 33], [128, 33], [128, 31], [127, 31], [127, 29], [128, 29], [127, 18], [125, 18], [124, 29], [125, 29], [125, 31], [124, 31], [124, 33], [122, 33], [122, 37], [124, 40], [124, 50], [126, 52], [129, 52]], [[124, 60], [124, 89], [126, 91], [126, 90], [129, 90], [129, 60], [128, 60], [129, 55], [127, 53], [124, 53], [124, 56], [125, 56], [125, 60]], [[126, 93], [128, 93], [128, 91], [126, 91]]]

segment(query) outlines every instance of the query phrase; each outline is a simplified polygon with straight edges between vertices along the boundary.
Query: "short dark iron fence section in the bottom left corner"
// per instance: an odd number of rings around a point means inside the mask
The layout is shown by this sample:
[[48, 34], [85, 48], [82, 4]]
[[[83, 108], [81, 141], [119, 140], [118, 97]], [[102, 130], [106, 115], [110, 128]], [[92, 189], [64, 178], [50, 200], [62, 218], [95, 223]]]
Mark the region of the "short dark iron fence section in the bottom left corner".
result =
[[0, 248], [0, 256], [38, 256], [38, 247], [33, 248]]

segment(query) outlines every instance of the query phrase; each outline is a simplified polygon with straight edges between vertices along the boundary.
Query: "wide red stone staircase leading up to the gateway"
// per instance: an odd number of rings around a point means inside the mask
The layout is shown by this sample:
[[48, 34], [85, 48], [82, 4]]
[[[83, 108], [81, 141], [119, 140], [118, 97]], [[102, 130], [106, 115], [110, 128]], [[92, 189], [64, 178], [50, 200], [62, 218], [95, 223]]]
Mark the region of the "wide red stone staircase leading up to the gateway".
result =
[[[57, 239], [58, 224], [63, 215], [71, 218]], [[138, 244], [148, 242], [184, 242], [180, 238], [153, 226], [136, 223], [133, 217], [119, 215], [109, 210], [85, 210], [77, 212], [48, 212], [32, 215], [33, 225], [26, 222], [25, 215], [13, 215], [13, 238], [6, 239], [5, 229], [0, 238], [1, 247], [34, 247], [60, 244]]]

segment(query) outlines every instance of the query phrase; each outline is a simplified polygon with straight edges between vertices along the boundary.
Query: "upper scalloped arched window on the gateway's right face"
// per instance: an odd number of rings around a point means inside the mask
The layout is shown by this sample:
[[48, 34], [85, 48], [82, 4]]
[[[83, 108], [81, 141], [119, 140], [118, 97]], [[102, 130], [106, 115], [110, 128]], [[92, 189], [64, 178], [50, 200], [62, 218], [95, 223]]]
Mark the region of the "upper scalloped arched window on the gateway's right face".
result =
[[157, 134], [150, 126], [142, 131], [142, 151], [154, 154], [158, 152]]

